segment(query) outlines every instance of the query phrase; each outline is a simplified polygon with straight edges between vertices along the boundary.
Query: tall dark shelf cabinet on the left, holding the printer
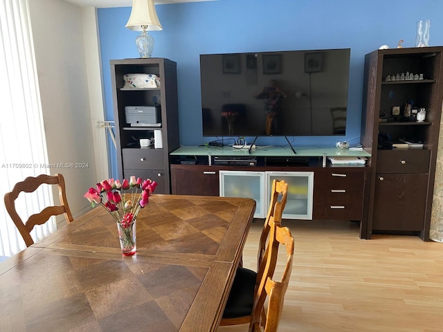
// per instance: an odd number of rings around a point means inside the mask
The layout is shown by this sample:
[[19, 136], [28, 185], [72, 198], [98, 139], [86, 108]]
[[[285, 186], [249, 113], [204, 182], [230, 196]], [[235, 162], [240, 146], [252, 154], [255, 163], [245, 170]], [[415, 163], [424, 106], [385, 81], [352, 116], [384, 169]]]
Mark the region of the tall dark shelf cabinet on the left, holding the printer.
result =
[[[128, 88], [126, 74], [154, 74], [157, 87]], [[170, 194], [169, 154], [179, 147], [177, 65], [169, 59], [111, 60], [114, 120], [116, 126], [118, 176], [151, 178], [158, 183], [156, 194]], [[161, 124], [132, 126], [126, 107], [159, 107]], [[140, 139], [160, 133], [161, 148], [142, 148]]]

